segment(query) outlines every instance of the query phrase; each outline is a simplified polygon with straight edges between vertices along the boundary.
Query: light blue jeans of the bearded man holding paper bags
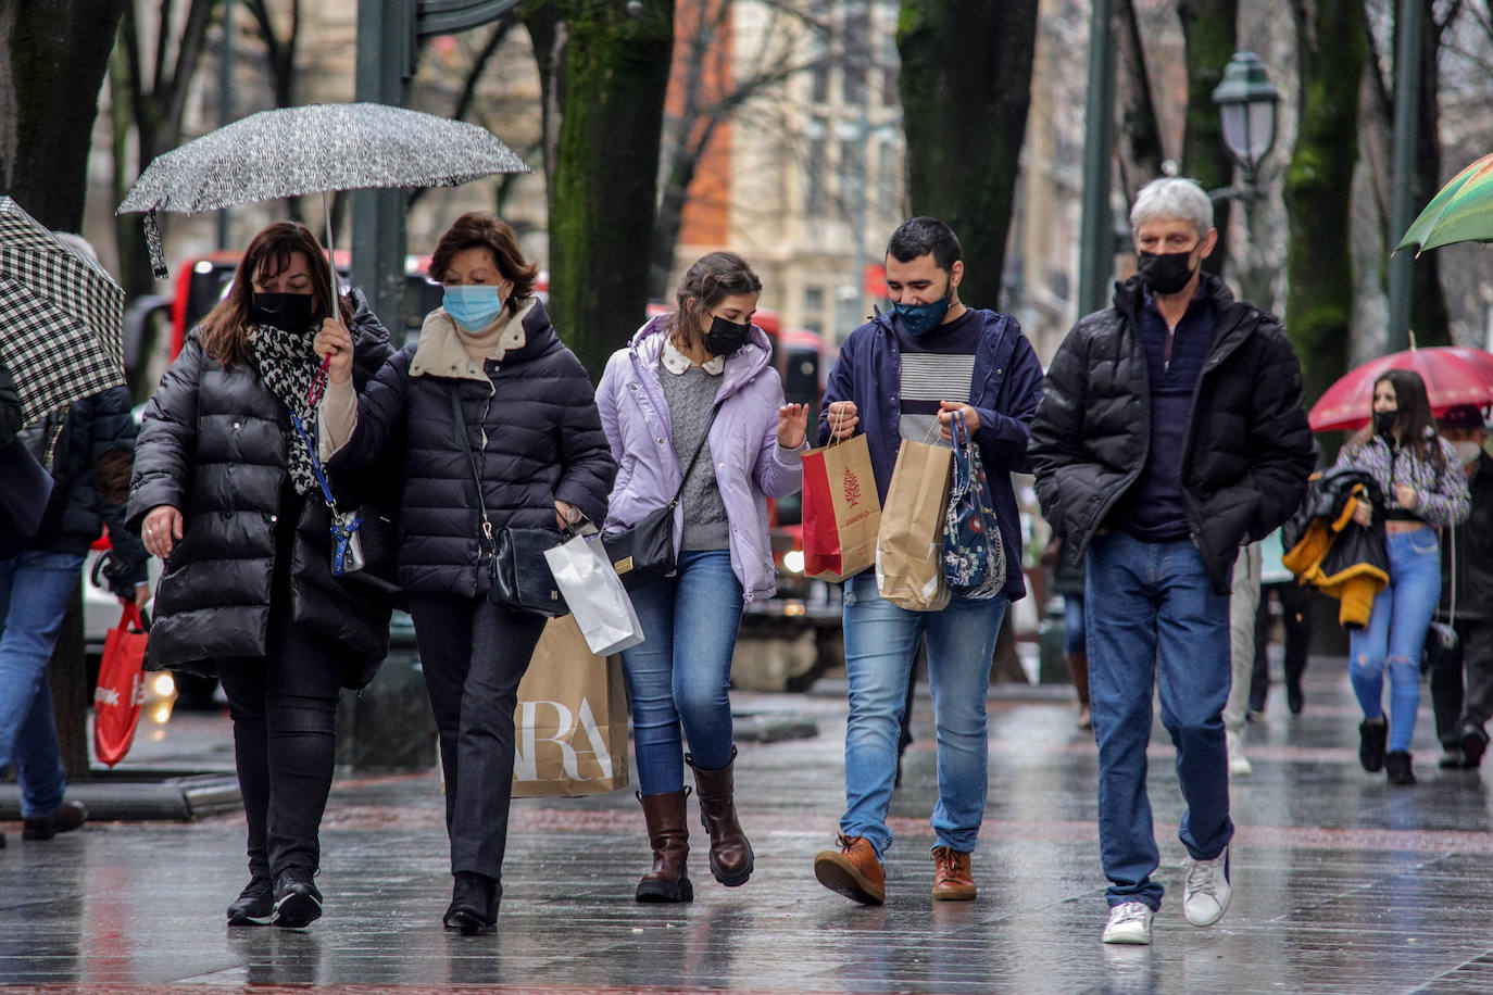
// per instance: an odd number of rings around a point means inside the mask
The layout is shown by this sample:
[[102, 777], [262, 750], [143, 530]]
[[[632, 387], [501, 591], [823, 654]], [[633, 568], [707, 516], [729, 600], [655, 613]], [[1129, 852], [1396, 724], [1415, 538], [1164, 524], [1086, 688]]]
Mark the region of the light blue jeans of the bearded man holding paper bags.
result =
[[985, 813], [988, 752], [985, 695], [996, 634], [1009, 598], [954, 598], [942, 612], [908, 612], [876, 591], [876, 576], [845, 582], [845, 814], [841, 832], [891, 846], [887, 807], [897, 777], [897, 738], [918, 640], [927, 638], [929, 686], [938, 734], [938, 844], [970, 853]]

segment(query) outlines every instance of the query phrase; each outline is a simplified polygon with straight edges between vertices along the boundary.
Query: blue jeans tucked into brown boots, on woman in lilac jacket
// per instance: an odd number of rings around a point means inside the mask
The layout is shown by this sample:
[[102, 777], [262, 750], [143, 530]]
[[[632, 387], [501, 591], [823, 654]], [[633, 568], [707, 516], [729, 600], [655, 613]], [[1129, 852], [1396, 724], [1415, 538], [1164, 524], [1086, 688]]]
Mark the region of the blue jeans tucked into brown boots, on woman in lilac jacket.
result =
[[638, 788], [684, 788], [684, 740], [700, 770], [732, 762], [732, 653], [742, 621], [742, 582], [726, 549], [679, 553], [673, 577], [633, 595], [643, 641], [623, 650], [633, 703]]

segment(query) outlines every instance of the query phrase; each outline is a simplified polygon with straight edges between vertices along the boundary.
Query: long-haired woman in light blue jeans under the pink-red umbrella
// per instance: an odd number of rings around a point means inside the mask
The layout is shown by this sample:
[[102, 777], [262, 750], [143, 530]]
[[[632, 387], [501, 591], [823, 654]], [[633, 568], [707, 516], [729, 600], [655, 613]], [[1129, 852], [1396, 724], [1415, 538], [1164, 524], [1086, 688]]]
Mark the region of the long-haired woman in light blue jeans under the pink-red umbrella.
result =
[[1441, 597], [1436, 528], [1466, 519], [1468, 480], [1451, 443], [1436, 434], [1418, 373], [1390, 370], [1380, 376], [1372, 415], [1372, 422], [1344, 446], [1338, 465], [1363, 470], [1378, 483], [1374, 507], [1360, 503], [1354, 519], [1360, 525], [1369, 525], [1375, 515], [1383, 519], [1390, 582], [1374, 597], [1368, 627], [1348, 634], [1348, 676], [1363, 709], [1363, 770], [1383, 767], [1391, 785], [1414, 785], [1409, 741], [1420, 706], [1420, 655]]

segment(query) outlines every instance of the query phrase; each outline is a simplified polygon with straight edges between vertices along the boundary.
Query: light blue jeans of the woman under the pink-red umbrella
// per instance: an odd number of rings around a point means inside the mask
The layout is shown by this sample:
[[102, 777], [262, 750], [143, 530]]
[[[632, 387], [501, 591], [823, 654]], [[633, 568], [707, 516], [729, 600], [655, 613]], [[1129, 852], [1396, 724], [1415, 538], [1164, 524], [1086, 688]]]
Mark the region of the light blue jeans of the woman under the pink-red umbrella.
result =
[[1441, 600], [1441, 543], [1436, 530], [1390, 533], [1390, 586], [1374, 595], [1369, 624], [1348, 633], [1348, 679], [1365, 719], [1384, 713], [1384, 667], [1390, 671], [1391, 750], [1409, 750], [1420, 707], [1420, 652]]

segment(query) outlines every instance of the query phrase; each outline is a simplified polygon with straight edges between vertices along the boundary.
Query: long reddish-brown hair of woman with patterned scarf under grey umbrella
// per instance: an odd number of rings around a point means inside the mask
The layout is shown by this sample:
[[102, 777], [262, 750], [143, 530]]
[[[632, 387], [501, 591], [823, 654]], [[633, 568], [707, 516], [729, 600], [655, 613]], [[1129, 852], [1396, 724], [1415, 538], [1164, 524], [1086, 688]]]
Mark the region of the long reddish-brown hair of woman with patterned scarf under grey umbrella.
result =
[[[233, 273], [233, 283], [218, 306], [202, 319], [202, 348], [225, 367], [233, 367], [249, 358], [249, 303], [254, 297], [255, 276], [278, 276], [290, 257], [300, 252], [311, 270], [311, 312], [314, 324], [331, 313], [331, 266], [327, 252], [311, 234], [311, 228], [296, 221], [278, 221], [260, 231], [249, 242]], [[337, 294], [337, 313], [342, 324], [352, 321], [352, 306]]]

